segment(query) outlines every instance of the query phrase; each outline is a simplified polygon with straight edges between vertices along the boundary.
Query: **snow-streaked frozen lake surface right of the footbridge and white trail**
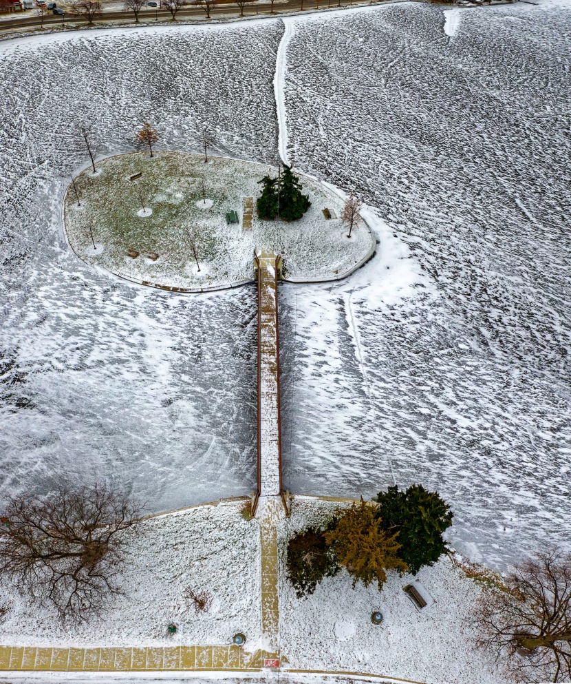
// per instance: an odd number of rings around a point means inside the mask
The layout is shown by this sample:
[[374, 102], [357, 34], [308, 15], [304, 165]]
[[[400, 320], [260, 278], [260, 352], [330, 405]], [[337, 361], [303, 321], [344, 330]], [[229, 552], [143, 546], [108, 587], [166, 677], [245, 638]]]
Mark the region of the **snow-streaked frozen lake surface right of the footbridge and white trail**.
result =
[[458, 11], [291, 20], [290, 159], [387, 229], [349, 280], [281, 287], [284, 479], [422, 482], [504, 566], [570, 539], [571, 7]]

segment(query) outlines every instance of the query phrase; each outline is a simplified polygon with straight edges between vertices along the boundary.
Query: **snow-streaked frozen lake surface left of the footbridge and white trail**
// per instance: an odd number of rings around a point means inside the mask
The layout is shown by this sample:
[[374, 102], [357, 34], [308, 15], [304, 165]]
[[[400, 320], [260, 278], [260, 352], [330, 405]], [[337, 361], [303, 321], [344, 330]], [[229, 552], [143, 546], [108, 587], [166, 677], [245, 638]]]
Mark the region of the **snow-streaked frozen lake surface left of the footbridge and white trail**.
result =
[[[277, 160], [279, 22], [82, 32], [0, 48], [0, 491], [107, 477], [153, 510], [255, 485], [255, 289], [169, 296], [65, 247], [60, 202], [94, 125], [100, 153], [159, 146]], [[33, 68], [30, 68], [33, 65]]]

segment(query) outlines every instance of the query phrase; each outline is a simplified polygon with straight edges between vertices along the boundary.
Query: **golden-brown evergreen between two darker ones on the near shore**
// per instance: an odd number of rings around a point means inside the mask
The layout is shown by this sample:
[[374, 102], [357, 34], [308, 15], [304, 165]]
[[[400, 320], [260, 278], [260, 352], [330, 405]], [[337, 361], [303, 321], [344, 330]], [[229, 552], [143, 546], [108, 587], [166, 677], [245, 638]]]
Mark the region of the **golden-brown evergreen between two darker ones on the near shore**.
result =
[[334, 557], [353, 577], [353, 588], [358, 580], [366, 587], [376, 580], [380, 591], [387, 581], [385, 570], [408, 570], [407, 563], [398, 557], [397, 535], [387, 535], [377, 512], [377, 506], [361, 499], [360, 504], [336, 517], [332, 530], [325, 532]]

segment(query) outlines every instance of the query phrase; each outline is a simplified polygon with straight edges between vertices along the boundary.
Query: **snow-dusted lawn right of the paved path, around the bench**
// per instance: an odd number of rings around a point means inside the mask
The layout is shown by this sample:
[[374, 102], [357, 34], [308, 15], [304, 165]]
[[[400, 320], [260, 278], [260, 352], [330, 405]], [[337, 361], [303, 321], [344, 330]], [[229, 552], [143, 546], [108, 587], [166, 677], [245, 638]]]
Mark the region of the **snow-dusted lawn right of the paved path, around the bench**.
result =
[[[387, 674], [438, 684], [504, 684], [502, 663], [475, 648], [470, 627], [480, 588], [441, 559], [420, 570], [435, 603], [419, 612], [402, 587], [411, 576], [389, 573], [383, 592], [368, 588], [345, 570], [323, 579], [314, 594], [298, 599], [286, 577], [288, 539], [297, 530], [323, 523], [348, 504], [295, 497], [292, 516], [281, 523], [281, 648], [297, 670], [345, 670]], [[380, 610], [383, 623], [371, 623]]]

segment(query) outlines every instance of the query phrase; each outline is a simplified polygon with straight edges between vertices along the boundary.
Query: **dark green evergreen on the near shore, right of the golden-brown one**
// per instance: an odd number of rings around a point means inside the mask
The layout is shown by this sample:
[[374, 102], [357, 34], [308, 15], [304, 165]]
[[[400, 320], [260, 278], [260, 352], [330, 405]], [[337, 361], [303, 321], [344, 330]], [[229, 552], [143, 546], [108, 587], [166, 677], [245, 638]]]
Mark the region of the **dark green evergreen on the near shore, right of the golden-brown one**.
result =
[[376, 501], [380, 526], [389, 534], [398, 532], [398, 555], [410, 572], [432, 566], [448, 550], [442, 532], [451, 526], [453, 512], [437, 492], [418, 484], [401, 492], [395, 486], [380, 492]]

